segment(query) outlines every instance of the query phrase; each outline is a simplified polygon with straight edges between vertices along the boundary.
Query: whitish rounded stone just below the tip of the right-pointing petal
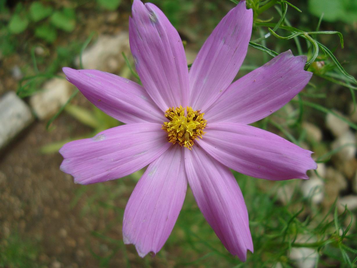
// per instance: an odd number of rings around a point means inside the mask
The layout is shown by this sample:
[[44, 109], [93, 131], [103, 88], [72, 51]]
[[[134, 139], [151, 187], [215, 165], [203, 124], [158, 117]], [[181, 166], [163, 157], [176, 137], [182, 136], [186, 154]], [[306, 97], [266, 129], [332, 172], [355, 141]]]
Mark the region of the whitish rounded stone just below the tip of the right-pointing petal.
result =
[[313, 204], [319, 204], [323, 200], [325, 183], [318, 177], [311, 177], [302, 182], [301, 192], [305, 198], [311, 198]]

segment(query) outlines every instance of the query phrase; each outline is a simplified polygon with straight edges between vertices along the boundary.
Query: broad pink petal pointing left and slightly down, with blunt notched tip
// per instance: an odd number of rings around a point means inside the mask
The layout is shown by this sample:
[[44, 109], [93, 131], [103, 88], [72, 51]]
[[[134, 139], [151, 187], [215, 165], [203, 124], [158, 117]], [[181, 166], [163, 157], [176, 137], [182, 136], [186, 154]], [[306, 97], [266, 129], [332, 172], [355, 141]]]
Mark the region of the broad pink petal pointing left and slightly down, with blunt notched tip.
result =
[[129, 175], [170, 147], [160, 124], [136, 123], [107, 129], [90, 139], [74, 140], [60, 149], [61, 170], [76, 183], [105, 182]]

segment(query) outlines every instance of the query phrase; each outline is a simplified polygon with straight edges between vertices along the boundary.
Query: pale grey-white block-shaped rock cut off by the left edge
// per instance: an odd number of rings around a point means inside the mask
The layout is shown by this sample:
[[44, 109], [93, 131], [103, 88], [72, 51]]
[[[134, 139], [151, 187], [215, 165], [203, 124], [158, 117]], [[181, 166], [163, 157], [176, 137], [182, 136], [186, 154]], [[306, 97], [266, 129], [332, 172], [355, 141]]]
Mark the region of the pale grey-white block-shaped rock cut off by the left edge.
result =
[[34, 120], [27, 104], [13, 91], [0, 99], [0, 149]]

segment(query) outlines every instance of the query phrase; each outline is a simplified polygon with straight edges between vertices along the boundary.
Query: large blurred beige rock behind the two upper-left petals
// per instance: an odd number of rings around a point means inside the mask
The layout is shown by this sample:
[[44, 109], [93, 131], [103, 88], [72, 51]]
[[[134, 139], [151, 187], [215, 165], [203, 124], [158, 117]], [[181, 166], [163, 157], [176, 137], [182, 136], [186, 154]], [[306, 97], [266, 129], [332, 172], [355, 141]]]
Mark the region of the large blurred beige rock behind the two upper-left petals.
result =
[[[127, 32], [120, 32], [115, 36], [100, 35], [95, 44], [83, 52], [83, 67], [113, 73], [125, 64], [121, 54], [123, 51], [130, 59], [129, 34]], [[79, 58], [76, 59], [76, 65], [80, 67]]]

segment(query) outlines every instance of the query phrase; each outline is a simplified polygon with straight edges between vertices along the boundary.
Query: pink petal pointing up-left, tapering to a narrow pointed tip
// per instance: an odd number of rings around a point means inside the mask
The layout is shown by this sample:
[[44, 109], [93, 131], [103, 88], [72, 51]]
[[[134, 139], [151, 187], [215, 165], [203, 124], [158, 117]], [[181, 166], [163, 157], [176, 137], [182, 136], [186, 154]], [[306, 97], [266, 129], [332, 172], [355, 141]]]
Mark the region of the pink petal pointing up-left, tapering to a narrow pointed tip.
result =
[[121, 122], [162, 124], [165, 119], [145, 89], [133, 81], [97, 70], [65, 67], [63, 72], [89, 101]]

